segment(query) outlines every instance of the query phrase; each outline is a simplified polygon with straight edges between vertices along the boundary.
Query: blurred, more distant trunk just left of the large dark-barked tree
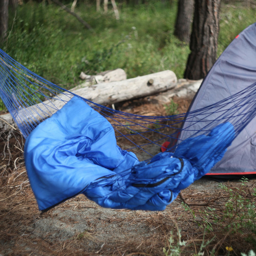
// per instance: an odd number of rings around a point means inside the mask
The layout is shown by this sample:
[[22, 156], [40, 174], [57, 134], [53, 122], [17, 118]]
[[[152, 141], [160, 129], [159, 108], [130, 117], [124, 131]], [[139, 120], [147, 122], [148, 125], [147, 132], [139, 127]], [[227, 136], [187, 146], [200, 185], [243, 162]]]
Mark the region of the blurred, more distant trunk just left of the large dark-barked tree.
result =
[[179, 0], [174, 35], [183, 42], [190, 42], [194, 0]]

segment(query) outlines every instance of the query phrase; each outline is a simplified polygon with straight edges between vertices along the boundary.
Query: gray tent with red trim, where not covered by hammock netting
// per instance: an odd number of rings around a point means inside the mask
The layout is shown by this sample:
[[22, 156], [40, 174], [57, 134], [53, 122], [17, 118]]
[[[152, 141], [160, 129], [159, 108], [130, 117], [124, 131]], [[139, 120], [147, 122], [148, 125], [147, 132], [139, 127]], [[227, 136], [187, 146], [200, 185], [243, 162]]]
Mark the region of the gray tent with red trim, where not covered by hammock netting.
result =
[[[214, 104], [226, 97], [245, 89], [256, 82], [256, 23], [242, 31], [224, 50], [212, 69], [203, 80], [189, 111]], [[229, 106], [227, 106], [229, 107]], [[197, 120], [194, 117], [194, 121]], [[211, 120], [213, 117], [210, 117]], [[218, 118], [218, 112], [214, 114]], [[191, 119], [190, 119], [191, 122]], [[207, 122], [197, 122], [194, 130], [200, 130]], [[190, 123], [183, 124], [180, 139], [192, 135], [186, 130]], [[223, 159], [219, 161], [208, 175], [251, 175], [256, 174], [256, 118], [241, 131]], [[224, 176], [223, 176], [224, 177]]]

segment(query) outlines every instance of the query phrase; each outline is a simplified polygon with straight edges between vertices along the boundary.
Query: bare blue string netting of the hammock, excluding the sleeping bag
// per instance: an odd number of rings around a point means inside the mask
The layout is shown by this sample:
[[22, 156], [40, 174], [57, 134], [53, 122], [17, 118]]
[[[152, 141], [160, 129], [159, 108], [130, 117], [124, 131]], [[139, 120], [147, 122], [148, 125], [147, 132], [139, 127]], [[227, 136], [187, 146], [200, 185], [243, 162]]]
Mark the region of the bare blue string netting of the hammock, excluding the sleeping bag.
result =
[[[117, 142], [126, 140], [126, 143], [122, 143], [127, 144], [124, 149], [139, 149], [151, 158], [153, 155], [148, 152], [150, 144], [161, 146], [168, 138], [177, 139], [182, 129], [189, 130], [193, 137], [208, 133], [220, 123], [230, 122], [237, 135], [255, 116], [255, 87], [252, 84], [246, 90], [214, 105], [175, 116], [124, 113], [85, 98], [83, 100], [111, 122]], [[40, 122], [59, 110], [74, 94], [31, 72], [0, 49], [0, 96], [26, 138]], [[214, 116], [216, 113], [217, 119]], [[184, 120], [185, 127], [182, 126]], [[197, 130], [197, 122], [206, 125]]]

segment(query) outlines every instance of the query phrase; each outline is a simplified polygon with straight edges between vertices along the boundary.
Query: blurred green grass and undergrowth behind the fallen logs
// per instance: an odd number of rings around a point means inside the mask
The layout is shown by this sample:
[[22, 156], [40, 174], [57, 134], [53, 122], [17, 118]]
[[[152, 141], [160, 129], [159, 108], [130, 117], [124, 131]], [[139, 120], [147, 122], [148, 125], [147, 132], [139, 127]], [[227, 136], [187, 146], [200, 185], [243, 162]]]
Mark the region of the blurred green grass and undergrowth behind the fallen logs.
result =
[[[70, 7], [72, 1], [67, 6]], [[7, 41], [0, 48], [26, 68], [67, 89], [79, 74], [123, 68], [128, 78], [170, 69], [183, 77], [189, 46], [173, 36], [177, 0], [148, 4], [118, 4], [120, 20], [112, 9], [96, 12], [90, 2], [75, 12], [93, 28], [89, 31], [74, 16], [54, 4], [28, 2], [9, 14]], [[255, 10], [221, 7], [218, 55], [245, 27], [255, 22]]]

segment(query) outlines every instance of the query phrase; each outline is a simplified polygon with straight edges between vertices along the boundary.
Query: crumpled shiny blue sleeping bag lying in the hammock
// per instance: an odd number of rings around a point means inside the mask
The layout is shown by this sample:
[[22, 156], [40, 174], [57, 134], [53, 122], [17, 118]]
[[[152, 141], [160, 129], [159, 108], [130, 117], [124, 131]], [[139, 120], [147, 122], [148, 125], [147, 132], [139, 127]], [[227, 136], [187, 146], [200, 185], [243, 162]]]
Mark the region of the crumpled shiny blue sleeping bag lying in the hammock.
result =
[[234, 134], [224, 123], [139, 162], [116, 144], [107, 119], [75, 96], [30, 133], [25, 164], [40, 210], [79, 193], [103, 207], [163, 210], [222, 158]]

